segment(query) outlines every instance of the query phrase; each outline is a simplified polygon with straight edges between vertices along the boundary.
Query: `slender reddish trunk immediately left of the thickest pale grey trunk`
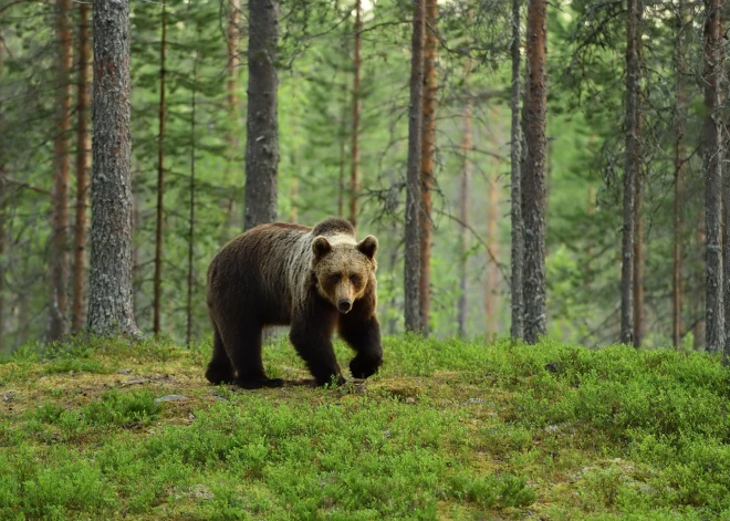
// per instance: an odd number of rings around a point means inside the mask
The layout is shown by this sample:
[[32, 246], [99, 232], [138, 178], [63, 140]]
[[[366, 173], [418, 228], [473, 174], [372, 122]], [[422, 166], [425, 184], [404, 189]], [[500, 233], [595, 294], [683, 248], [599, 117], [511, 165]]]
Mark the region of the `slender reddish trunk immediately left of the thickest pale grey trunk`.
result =
[[90, 107], [90, 49], [88, 49], [88, 15], [91, 6], [79, 4], [79, 92], [76, 100], [76, 227], [74, 233], [73, 259], [73, 304], [71, 308], [71, 331], [80, 332], [86, 323], [84, 300], [86, 296], [86, 240], [88, 220], [88, 163], [91, 142], [88, 138]]

